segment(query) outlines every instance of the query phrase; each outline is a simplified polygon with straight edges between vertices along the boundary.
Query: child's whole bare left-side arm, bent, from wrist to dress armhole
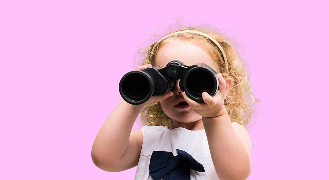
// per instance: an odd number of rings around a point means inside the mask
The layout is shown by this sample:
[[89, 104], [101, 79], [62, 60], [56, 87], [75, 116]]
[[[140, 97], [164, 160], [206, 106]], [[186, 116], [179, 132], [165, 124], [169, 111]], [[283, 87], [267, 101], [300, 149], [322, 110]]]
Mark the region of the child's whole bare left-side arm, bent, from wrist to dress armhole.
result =
[[120, 100], [93, 143], [91, 157], [97, 167], [117, 172], [137, 166], [143, 136], [141, 129], [131, 129], [141, 109]]

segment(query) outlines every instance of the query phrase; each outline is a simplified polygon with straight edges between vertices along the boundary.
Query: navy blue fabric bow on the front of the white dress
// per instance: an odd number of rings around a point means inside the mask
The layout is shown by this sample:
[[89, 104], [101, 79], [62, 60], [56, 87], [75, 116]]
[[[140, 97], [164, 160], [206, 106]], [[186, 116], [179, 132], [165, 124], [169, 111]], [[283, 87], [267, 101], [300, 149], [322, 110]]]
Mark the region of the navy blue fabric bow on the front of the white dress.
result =
[[202, 164], [198, 163], [193, 157], [180, 149], [176, 149], [177, 156], [172, 152], [153, 151], [150, 160], [150, 175], [153, 179], [163, 180], [181, 179], [190, 180], [190, 169], [204, 172]]

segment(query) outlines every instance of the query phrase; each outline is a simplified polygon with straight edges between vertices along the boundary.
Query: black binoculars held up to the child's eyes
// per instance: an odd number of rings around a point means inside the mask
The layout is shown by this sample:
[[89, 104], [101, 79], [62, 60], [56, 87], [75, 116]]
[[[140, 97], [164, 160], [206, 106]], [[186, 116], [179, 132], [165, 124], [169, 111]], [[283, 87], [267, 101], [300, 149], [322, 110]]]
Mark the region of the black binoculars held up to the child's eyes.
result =
[[151, 96], [174, 92], [178, 79], [180, 89], [196, 102], [203, 102], [204, 91], [214, 96], [219, 85], [217, 72], [207, 64], [186, 66], [183, 62], [175, 60], [164, 68], [154, 65], [126, 73], [120, 80], [119, 91], [126, 102], [139, 105]]

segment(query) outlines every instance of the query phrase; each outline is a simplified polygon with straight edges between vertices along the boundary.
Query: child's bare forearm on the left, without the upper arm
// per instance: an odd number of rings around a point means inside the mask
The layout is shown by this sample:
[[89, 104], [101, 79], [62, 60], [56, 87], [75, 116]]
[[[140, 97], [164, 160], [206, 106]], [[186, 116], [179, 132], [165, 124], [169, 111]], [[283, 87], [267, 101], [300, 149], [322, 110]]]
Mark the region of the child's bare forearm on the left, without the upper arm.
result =
[[91, 156], [97, 166], [116, 164], [128, 147], [129, 136], [142, 106], [119, 101], [99, 130]]

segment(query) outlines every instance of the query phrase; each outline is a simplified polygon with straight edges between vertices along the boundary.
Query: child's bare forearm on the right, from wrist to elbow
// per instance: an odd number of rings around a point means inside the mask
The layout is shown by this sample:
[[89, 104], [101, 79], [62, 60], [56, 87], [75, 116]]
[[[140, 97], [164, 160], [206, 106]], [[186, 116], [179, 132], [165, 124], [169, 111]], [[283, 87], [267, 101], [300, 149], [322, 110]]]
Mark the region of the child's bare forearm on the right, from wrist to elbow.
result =
[[223, 115], [202, 117], [210, 154], [219, 179], [246, 179], [251, 160], [225, 108]]

